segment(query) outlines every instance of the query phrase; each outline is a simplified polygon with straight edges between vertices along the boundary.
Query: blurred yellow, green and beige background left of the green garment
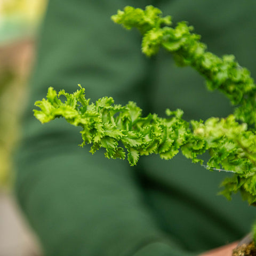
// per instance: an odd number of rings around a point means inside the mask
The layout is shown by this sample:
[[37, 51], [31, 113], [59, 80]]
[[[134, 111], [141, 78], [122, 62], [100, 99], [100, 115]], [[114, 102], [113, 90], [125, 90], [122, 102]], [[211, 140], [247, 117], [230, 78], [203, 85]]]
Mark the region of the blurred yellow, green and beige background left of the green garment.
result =
[[14, 197], [12, 153], [47, 0], [0, 1], [0, 256], [42, 255]]

